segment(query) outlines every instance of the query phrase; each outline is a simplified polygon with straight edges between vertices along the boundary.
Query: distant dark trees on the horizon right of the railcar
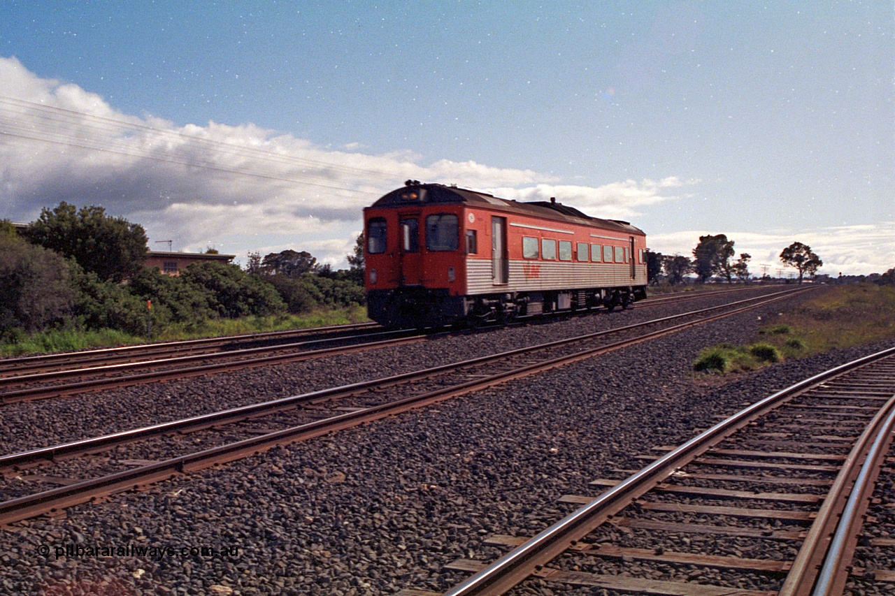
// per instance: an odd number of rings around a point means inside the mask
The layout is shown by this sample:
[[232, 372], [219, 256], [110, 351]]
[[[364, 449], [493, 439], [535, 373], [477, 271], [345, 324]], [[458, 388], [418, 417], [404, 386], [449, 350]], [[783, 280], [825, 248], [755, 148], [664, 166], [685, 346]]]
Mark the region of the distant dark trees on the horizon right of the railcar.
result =
[[[696, 279], [703, 284], [713, 277], [724, 279], [729, 284], [733, 283], [734, 278], [745, 283], [752, 277], [749, 271], [752, 255], [741, 252], [739, 258], [734, 260], [737, 253], [733, 246], [734, 241], [729, 240], [726, 234], [709, 234], [699, 237], [692, 259], [679, 254], [663, 255], [661, 252], [649, 251], [646, 263], [649, 283], [664, 281], [669, 285], [678, 285], [684, 283], [691, 274], [695, 274]], [[798, 242], [780, 252], [780, 261], [797, 269], [799, 284], [806, 275], [814, 277], [817, 269], [823, 266], [823, 260], [814, 254], [810, 246]]]

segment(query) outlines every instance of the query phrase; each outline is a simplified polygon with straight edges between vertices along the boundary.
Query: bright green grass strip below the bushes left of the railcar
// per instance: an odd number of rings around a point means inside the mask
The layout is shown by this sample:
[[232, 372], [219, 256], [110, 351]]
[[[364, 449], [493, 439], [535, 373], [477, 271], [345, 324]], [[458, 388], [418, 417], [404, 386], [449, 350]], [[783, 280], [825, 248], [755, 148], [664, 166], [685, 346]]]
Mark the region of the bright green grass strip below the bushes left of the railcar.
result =
[[[158, 336], [153, 333], [152, 340], [177, 341], [195, 339], [197, 337], [238, 336], [263, 331], [281, 331], [285, 329], [306, 329], [328, 327], [330, 325], [346, 325], [363, 323], [367, 318], [367, 310], [362, 306], [350, 309], [330, 311], [313, 311], [303, 315], [279, 315], [275, 317], [243, 317], [242, 319], [209, 319], [188, 325], [175, 325], [164, 329]], [[14, 336], [0, 344], [0, 356], [17, 356], [28, 353], [70, 352], [89, 348], [109, 347], [113, 345], [132, 345], [146, 342], [144, 336], [130, 334], [112, 329], [98, 331], [76, 331], [60, 329], [41, 331], [32, 334], [13, 334]]]

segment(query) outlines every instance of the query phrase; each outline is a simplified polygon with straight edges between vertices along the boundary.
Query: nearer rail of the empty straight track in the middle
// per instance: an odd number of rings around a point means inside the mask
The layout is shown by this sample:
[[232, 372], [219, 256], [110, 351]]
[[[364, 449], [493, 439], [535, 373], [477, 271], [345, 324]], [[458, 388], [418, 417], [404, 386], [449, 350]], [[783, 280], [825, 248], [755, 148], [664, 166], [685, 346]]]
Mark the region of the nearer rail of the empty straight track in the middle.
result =
[[609, 345], [601, 345], [585, 349], [576, 353], [552, 358], [547, 361], [529, 364], [514, 370], [499, 372], [486, 379], [474, 379], [451, 387], [441, 387], [419, 396], [405, 397], [387, 404], [379, 404], [356, 412], [340, 414], [320, 421], [312, 421], [289, 429], [278, 430], [266, 435], [247, 438], [224, 446], [213, 447], [199, 453], [175, 457], [163, 462], [140, 466], [132, 470], [81, 481], [69, 486], [46, 490], [35, 495], [15, 498], [0, 503], [0, 524], [11, 524], [35, 515], [52, 513], [60, 508], [71, 507], [115, 492], [138, 489], [141, 485], [173, 478], [178, 474], [192, 472], [209, 467], [210, 465], [223, 464], [245, 456], [259, 454], [262, 451], [280, 444], [293, 443], [307, 438], [318, 437], [337, 430], [351, 428], [365, 422], [386, 418], [395, 415], [396, 413], [403, 413], [424, 405], [438, 403], [450, 397], [460, 396], [471, 391], [499, 385], [508, 380], [521, 379], [543, 370], [550, 370], [570, 362], [577, 362], [590, 358], [600, 353], [608, 353], [629, 345], [635, 345], [653, 337], [669, 335], [684, 328], [691, 328], [705, 322], [729, 317], [739, 312], [763, 306], [767, 303], [783, 300], [790, 295], [792, 295], [792, 292], [785, 293], [785, 295], [777, 296], [776, 298], [771, 298], [765, 302], [740, 307], [734, 311], [715, 314], [703, 319], [680, 323], [670, 328], [652, 331], [643, 336], [637, 336]]

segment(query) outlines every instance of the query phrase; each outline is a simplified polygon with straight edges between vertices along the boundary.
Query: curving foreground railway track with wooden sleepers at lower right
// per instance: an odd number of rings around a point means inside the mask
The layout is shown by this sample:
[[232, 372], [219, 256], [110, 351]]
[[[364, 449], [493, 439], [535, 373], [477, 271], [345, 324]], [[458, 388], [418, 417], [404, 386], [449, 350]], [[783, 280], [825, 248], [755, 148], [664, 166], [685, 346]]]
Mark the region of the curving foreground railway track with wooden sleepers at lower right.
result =
[[[509, 548], [444, 596], [604, 589], [699, 596], [840, 594], [849, 581], [895, 581], [855, 566], [874, 480], [895, 430], [895, 348], [828, 370], [719, 422], [629, 475], [592, 481], [599, 496]], [[890, 539], [862, 539], [865, 547]], [[406, 589], [403, 596], [439, 592]]]

